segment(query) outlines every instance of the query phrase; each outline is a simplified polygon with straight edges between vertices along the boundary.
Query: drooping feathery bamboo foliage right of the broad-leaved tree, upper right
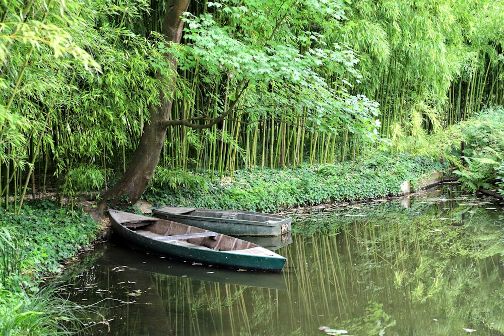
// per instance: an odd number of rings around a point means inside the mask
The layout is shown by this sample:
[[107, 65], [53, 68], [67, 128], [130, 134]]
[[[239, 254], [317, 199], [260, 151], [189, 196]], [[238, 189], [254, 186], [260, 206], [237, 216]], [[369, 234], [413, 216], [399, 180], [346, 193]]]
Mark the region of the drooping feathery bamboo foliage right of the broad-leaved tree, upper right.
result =
[[503, 15], [493, 0], [352, 3], [341, 38], [358, 54], [363, 78], [349, 81], [380, 103], [383, 133], [423, 142], [485, 103], [499, 104], [504, 40], [495, 25]]

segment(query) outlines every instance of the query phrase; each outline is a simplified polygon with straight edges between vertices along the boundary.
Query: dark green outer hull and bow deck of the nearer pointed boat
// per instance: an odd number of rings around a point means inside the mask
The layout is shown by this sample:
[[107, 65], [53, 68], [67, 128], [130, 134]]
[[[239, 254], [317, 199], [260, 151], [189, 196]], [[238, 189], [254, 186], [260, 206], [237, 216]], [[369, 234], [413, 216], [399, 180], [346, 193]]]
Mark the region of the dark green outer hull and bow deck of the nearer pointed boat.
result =
[[[214, 250], [205, 246], [198, 246], [196, 244], [188, 244], [187, 241], [184, 240], [152, 239], [145, 235], [139, 234], [136, 230], [132, 230], [121, 224], [120, 220], [118, 221], [115, 218], [116, 216], [114, 215], [123, 212], [109, 210], [109, 213], [112, 229], [114, 230], [114, 235], [121, 238], [125, 242], [128, 242], [128, 244], [131, 245], [132, 247], [144, 251], [149, 251], [150, 253], [171, 256], [181, 260], [191, 260], [206, 265], [216, 265], [227, 268], [242, 268], [244, 270], [263, 270], [273, 272], [281, 271], [287, 260], [286, 258], [275, 252], [272, 252], [264, 247], [251, 243], [248, 243], [251, 244], [248, 245], [250, 246], [249, 248], [239, 248], [238, 250], [225, 251], [225, 250]], [[131, 216], [131, 214], [129, 215]], [[137, 216], [139, 216], [139, 218], [146, 218], [148, 221], [152, 223], [152, 218], [150, 217], [140, 215]], [[164, 220], [159, 219], [159, 221]], [[175, 223], [175, 224], [189, 227], [181, 223]], [[203, 233], [206, 231], [204, 229], [199, 228], [187, 228], [186, 231], [189, 232], [190, 230], [193, 233], [194, 232]], [[225, 235], [220, 236], [228, 237]], [[247, 243], [240, 239], [237, 240], [238, 242], [235, 242], [235, 244], [238, 246], [245, 246], [244, 243]], [[259, 253], [255, 254], [256, 252]]]

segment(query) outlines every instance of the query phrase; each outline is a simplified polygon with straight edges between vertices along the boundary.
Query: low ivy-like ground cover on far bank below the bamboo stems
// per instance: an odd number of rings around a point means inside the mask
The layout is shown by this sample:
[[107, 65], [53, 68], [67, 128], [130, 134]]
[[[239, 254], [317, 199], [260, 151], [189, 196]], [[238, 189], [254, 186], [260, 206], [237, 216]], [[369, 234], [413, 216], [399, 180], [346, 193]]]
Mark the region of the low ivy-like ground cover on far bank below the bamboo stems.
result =
[[[362, 162], [325, 165], [318, 170], [240, 170], [234, 172], [232, 181], [227, 177], [213, 183], [208, 181], [208, 189], [201, 188], [203, 180], [193, 186], [179, 181], [179, 187], [174, 189], [163, 186], [166, 180], [153, 179], [144, 196], [154, 204], [278, 212], [298, 206], [398, 194], [404, 181], [412, 181], [416, 186], [433, 170], [440, 169], [438, 163], [427, 158], [400, 155], [391, 159], [375, 154]], [[197, 175], [190, 178], [194, 176]]]

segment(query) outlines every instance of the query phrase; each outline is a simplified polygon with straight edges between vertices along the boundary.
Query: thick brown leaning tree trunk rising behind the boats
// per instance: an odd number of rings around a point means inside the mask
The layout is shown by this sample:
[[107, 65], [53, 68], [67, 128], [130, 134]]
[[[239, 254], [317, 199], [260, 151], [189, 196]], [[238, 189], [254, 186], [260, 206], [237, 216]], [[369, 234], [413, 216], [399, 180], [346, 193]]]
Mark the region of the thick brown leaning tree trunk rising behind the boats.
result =
[[[189, 3], [190, 0], [175, 0], [173, 6], [167, 8], [162, 28], [166, 43], [180, 42], [183, 28], [181, 17], [187, 11]], [[163, 148], [167, 129], [166, 121], [170, 117], [176, 82], [177, 60], [170, 54], [166, 54], [165, 57], [170, 66], [168, 73], [173, 74], [169, 88], [159, 90], [161, 105], [150, 107], [150, 122], [144, 127], [135, 156], [121, 179], [102, 195], [103, 198], [98, 207], [100, 211], [104, 211], [107, 206], [117, 205], [123, 196], [127, 197], [132, 204], [136, 203], [154, 174]], [[156, 76], [162, 75], [158, 71]]]

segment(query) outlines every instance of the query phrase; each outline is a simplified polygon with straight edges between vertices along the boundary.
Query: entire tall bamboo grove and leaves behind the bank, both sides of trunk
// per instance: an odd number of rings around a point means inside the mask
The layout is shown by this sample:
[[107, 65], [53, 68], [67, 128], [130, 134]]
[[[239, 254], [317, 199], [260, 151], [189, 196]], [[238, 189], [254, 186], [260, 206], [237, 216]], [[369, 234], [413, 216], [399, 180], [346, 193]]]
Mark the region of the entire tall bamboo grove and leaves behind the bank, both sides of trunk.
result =
[[352, 160], [388, 142], [411, 149], [503, 104], [497, 0], [194, 1], [180, 45], [158, 33], [169, 6], [0, 2], [0, 208], [19, 208], [28, 190], [106, 189], [158, 103], [166, 83], [153, 73], [167, 53], [178, 60], [171, 118], [196, 125], [168, 129], [159, 164], [175, 170], [222, 176]]

